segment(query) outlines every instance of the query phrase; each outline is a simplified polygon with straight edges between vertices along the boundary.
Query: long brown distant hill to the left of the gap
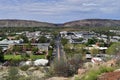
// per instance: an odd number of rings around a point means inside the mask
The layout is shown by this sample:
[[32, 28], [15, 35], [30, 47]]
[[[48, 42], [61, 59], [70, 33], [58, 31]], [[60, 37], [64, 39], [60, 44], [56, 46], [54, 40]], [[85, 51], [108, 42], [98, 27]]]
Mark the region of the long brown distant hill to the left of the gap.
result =
[[47, 22], [38, 22], [32, 20], [0, 20], [0, 27], [54, 27], [55, 25]]

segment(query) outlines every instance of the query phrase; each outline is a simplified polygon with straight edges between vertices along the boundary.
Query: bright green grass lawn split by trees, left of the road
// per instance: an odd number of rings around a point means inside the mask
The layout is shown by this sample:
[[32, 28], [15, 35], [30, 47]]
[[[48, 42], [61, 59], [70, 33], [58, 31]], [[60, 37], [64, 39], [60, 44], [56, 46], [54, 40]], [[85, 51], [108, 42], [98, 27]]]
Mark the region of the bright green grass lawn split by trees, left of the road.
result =
[[[36, 59], [42, 59], [45, 58], [45, 55], [31, 55], [30, 59], [36, 60]], [[4, 55], [5, 60], [22, 60], [21, 55]]]

